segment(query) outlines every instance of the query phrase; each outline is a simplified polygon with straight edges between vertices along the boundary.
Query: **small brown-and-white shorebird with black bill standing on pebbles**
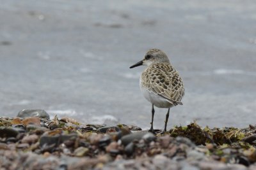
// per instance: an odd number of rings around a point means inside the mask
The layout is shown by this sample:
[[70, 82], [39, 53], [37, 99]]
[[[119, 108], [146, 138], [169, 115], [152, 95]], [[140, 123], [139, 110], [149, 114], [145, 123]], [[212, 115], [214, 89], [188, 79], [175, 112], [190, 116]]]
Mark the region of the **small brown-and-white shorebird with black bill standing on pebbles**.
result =
[[180, 102], [185, 89], [182, 78], [170, 64], [167, 55], [159, 49], [148, 50], [143, 60], [130, 67], [147, 66], [140, 76], [140, 90], [143, 96], [152, 103], [152, 120], [150, 132], [154, 132], [154, 106], [168, 108], [164, 122], [164, 132], [169, 118], [170, 108], [182, 105]]

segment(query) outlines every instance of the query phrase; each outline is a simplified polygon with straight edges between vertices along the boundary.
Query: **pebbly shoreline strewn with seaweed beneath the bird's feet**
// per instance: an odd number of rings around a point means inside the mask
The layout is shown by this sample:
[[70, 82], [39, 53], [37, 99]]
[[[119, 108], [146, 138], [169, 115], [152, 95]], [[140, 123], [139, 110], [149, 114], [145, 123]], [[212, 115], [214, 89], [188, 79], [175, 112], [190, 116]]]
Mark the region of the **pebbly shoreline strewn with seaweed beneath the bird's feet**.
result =
[[210, 129], [193, 122], [154, 135], [134, 125], [50, 120], [42, 110], [23, 113], [0, 117], [0, 168], [256, 169], [253, 125]]

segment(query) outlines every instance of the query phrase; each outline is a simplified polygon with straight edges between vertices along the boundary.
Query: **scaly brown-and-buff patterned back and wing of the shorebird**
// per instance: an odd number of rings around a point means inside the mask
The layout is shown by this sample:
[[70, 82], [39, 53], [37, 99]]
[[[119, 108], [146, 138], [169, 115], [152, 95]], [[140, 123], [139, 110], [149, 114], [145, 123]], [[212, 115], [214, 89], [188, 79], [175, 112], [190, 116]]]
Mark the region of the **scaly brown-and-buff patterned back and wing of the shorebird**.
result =
[[150, 92], [163, 97], [174, 105], [182, 104], [180, 100], [184, 96], [183, 81], [170, 64], [154, 64], [144, 73], [144, 76], [147, 77], [144, 87], [147, 87]]

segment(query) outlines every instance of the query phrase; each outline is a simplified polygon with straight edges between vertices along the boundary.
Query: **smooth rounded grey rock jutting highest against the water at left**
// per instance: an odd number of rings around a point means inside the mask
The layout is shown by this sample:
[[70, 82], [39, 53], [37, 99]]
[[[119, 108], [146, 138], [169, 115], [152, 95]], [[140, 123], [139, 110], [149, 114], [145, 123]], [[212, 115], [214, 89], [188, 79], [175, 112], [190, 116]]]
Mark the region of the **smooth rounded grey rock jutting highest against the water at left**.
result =
[[44, 110], [21, 110], [17, 117], [26, 118], [26, 117], [38, 117], [49, 119], [50, 116]]

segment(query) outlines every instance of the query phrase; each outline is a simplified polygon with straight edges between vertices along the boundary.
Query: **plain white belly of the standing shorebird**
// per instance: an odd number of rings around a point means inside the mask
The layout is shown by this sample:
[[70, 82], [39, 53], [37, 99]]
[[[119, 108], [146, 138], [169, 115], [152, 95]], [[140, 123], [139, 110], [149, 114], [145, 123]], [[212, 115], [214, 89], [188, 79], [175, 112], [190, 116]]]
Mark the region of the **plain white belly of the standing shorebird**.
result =
[[145, 89], [144, 87], [142, 87], [141, 81], [140, 81], [140, 90], [141, 90], [143, 96], [150, 103], [154, 104], [154, 106], [157, 106], [157, 108], [171, 108], [173, 106], [172, 103], [168, 102], [163, 97], [161, 97], [157, 94], [154, 94], [154, 93], [150, 92], [148, 89]]

